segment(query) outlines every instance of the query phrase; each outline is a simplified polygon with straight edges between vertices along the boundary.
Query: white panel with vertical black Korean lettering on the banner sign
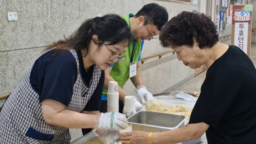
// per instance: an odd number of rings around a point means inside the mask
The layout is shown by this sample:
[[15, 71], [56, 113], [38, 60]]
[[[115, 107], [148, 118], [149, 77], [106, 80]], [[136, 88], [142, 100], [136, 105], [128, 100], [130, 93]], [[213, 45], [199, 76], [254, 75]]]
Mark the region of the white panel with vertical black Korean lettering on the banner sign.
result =
[[248, 22], [235, 23], [234, 45], [247, 54]]

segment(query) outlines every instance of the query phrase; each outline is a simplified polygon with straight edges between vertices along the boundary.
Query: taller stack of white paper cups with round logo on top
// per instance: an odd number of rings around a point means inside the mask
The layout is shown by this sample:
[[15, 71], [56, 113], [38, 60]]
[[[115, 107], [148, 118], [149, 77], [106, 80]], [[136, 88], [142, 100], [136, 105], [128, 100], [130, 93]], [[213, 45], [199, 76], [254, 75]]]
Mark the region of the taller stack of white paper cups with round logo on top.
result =
[[117, 82], [109, 82], [108, 85], [108, 112], [118, 112], [119, 111], [119, 92]]

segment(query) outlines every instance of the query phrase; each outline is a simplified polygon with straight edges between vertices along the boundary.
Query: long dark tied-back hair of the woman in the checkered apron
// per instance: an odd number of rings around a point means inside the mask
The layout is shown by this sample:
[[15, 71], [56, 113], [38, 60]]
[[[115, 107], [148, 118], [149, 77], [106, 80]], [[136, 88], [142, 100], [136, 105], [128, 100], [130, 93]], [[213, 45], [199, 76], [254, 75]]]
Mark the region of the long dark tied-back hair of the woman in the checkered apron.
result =
[[105, 41], [109, 42], [108, 45], [120, 42], [130, 44], [133, 41], [133, 33], [126, 21], [116, 14], [107, 14], [87, 19], [69, 38], [64, 36], [64, 40], [49, 45], [45, 50], [55, 48], [54, 51], [57, 53], [65, 49], [86, 49], [86, 56], [93, 35], [98, 36], [100, 43], [94, 40], [93, 42], [99, 44], [99, 47]]

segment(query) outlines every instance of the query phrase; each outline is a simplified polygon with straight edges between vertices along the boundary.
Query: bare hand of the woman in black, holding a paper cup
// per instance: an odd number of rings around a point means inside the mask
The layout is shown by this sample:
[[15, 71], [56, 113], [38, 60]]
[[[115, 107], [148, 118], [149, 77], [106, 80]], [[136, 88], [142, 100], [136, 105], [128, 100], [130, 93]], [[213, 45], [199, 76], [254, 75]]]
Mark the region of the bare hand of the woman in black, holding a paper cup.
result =
[[148, 144], [148, 132], [131, 131], [120, 134], [122, 143], [127, 144], [128, 140], [131, 144]]

